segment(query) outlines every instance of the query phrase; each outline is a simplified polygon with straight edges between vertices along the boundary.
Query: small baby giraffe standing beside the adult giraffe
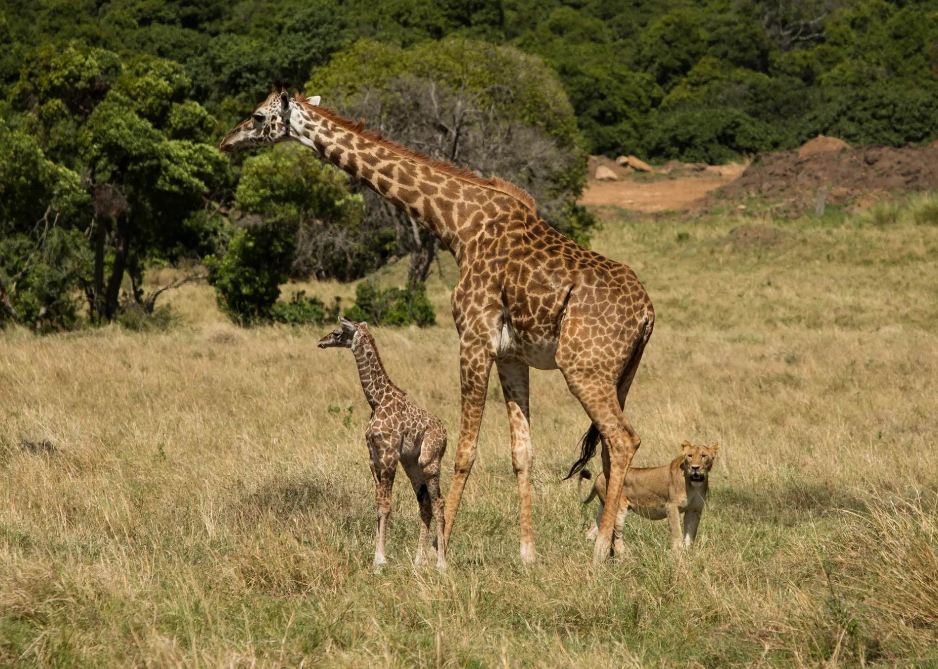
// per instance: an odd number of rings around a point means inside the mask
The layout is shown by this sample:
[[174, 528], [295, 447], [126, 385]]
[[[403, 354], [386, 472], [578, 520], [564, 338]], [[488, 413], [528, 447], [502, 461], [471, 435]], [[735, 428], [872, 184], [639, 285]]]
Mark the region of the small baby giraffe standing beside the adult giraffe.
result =
[[391, 488], [398, 462], [407, 473], [420, 504], [420, 540], [414, 562], [419, 564], [428, 552], [430, 521], [436, 521], [436, 568], [446, 571], [446, 529], [444, 501], [440, 496], [440, 462], [446, 451], [446, 428], [440, 419], [410, 402], [404, 392], [387, 377], [368, 323], [339, 318], [340, 327], [319, 340], [320, 349], [352, 349], [358, 365], [365, 398], [371, 405], [371, 421], [365, 442], [371, 453], [378, 505], [378, 535], [374, 549], [374, 570], [386, 563], [385, 532], [391, 513]]

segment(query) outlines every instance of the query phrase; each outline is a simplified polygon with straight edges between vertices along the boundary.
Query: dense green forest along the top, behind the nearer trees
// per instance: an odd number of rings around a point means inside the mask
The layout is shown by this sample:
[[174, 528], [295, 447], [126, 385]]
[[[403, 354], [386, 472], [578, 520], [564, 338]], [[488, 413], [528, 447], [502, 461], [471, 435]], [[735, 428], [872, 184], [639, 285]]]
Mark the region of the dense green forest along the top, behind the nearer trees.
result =
[[[843, 118], [845, 90], [885, 85], [904, 99], [915, 89], [933, 94], [938, 82], [933, 0], [115, 0], [100, 7], [11, 0], [5, 7], [6, 94], [35, 49], [80, 40], [124, 59], [173, 59], [189, 78], [189, 96], [225, 124], [250, 110], [273, 79], [305, 82], [360, 37], [405, 48], [470, 37], [537, 54], [559, 75], [592, 151], [610, 154], [673, 155], [662, 140], [669, 133], [655, 131], [675, 125], [668, 117], [682, 108], [743, 112], [744, 125], [771, 126], [761, 147], [787, 146], [817, 127], [855, 123]], [[394, 69], [380, 58], [364, 65], [375, 76]], [[76, 94], [94, 97], [93, 89]], [[762, 126], [753, 127], [762, 134]], [[694, 134], [703, 138], [697, 150], [723, 141], [707, 128]], [[916, 137], [862, 123], [855, 130], [857, 141], [895, 142], [900, 135]], [[732, 137], [727, 141], [735, 150]]]

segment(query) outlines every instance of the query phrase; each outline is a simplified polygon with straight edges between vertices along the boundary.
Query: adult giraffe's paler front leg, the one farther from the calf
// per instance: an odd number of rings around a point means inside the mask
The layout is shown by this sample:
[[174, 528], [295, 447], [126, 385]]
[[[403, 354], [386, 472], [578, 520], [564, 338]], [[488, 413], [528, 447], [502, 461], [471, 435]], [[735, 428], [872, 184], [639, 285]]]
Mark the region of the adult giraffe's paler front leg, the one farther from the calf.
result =
[[530, 370], [520, 361], [498, 361], [498, 378], [502, 382], [508, 425], [511, 428], [511, 464], [518, 478], [518, 514], [521, 521], [521, 557], [525, 564], [537, 560], [534, 548], [534, 526], [531, 520], [531, 422], [528, 409]]

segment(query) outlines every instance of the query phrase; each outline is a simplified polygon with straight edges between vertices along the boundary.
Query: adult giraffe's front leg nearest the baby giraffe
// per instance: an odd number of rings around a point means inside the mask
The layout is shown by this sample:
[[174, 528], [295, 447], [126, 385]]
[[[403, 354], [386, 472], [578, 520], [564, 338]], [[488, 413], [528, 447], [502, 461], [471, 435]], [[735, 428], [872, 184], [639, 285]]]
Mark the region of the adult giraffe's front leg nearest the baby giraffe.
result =
[[449, 485], [449, 497], [446, 498], [446, 537], [444, 543], [449, 546], [449, 535], [453, 531], [453, 520], [460, 508], [462, 490], [466, 479], [476, 461], [478, 429], [482, 424], [482, 411], [485, 409], [485, 393], [489, 388], [489, 374], [492, 371], [492, 354], [485, 342], [463, 343], [460, 346], [460, 385], [462, 413], [460, 418], [460, 439], [456, 445], [456, 462], [453, 481]]

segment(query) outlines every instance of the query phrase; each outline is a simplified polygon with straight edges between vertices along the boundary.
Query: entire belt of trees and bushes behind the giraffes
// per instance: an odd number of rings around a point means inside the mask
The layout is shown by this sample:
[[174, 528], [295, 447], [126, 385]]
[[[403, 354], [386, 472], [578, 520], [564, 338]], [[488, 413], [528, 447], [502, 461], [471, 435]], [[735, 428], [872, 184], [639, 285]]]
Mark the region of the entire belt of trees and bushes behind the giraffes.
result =
[[413, 252], [418, 282], [435, 246], [355, 183], [294, 150], [219, 155], [277, 78], [516, 181], [586, 242], [588, 152], [932, 141], [936, 61], [938, 0], [9, 0], [0, 318], [113, 320], [148, 262], [220, 259], [244, 214], [294, 235], [286, 275], [349, 280]]

